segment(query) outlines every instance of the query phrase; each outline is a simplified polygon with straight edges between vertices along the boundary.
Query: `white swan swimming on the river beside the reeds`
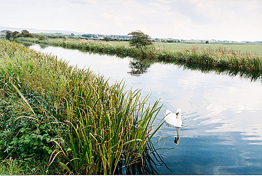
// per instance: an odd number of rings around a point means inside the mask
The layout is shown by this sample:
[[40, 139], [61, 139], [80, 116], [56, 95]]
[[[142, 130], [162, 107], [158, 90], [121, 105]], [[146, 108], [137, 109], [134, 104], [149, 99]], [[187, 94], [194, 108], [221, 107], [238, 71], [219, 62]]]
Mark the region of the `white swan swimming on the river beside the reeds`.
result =
[[177, 109], [176, 114], [171, 113], [171, 111], [169, 110], [166, 110], [164, 120], [166, 123], [173, 125], [175, 127], [182, 127], [181, 114], [182, 114], [181, 109]]

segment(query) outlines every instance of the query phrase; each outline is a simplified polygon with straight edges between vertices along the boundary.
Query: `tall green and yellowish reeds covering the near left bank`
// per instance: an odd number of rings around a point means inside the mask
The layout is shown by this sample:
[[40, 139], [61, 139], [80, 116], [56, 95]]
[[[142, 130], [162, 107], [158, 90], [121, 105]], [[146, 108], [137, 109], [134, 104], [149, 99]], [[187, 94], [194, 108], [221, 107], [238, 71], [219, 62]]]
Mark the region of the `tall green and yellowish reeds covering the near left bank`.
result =
[[57, 146], [49, 165], [59, 158], [67, 173], [114, 174], [121, 158], [128, 166], [148, 154], [149, 141], [161, 126], [154, 125], [158, 102], [150, 105], [139, 91], [125, 91], [123, 83], [111, 85], [56, 56], [4, 40], [0, 46], [2, 90], [12, 94], [28, 87], [50, 97], [46, 113], [57, 120], [49, 123], [68, 127], [67, 137], [50, 140]]

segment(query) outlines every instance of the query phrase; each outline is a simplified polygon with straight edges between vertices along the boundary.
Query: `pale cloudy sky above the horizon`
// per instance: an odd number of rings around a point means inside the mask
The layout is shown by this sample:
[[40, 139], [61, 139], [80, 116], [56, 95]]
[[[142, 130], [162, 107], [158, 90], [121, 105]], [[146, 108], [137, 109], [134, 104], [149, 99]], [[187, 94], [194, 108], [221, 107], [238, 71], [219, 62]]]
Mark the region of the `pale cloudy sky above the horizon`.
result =
[[0, 26], [152, 38], [262, 41], [262, 1], [0, 0]]

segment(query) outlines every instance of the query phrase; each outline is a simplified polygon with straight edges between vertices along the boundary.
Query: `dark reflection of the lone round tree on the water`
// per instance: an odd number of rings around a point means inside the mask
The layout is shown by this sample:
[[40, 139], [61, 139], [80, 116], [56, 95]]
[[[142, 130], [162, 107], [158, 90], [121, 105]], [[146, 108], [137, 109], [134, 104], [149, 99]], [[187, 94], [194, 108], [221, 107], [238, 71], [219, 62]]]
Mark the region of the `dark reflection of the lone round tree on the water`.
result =
[[149, 68], [150, 64], [146, 62], [142, 62], [140, 60], [131, 60], [129, 63], [129, 68], [131, 71], [127, 72], [131, 75], [140, 75], [147, 72], [147, 68]]

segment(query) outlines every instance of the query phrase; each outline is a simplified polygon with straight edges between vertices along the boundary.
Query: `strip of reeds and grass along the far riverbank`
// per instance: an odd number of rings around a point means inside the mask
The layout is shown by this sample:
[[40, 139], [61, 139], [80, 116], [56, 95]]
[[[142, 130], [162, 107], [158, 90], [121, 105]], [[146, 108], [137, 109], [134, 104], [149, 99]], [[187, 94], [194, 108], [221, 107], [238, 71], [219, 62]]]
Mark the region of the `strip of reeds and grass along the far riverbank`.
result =
[[244, 71], [261, 71], [262, 58], [258, 54], [241, 53], [226, 49], [209, 49], [192, 47], [189, 50], [174, 51], [170, 48], [156, 48], [153, 46], [134, 48], [124, 45], [111, 45], [104, 42], [69, 40], [18, 38], [17, 41], [34, 42], [75, 49], [84, 49], [100, 53], [113, 54], [120, 57], [142, 57], [155, 61], [181, 62], [198, 64], [214, 68], [230, 68]]

